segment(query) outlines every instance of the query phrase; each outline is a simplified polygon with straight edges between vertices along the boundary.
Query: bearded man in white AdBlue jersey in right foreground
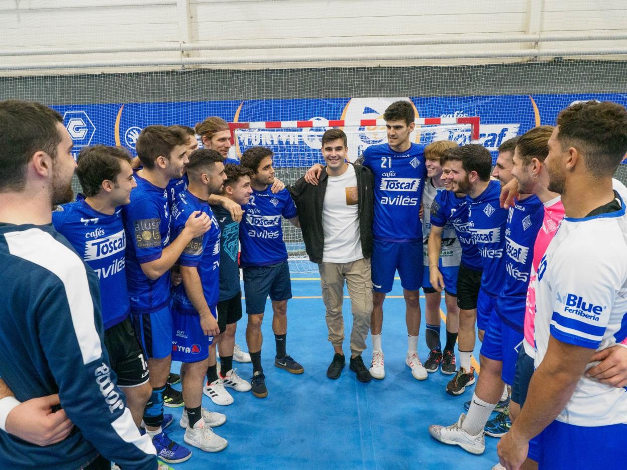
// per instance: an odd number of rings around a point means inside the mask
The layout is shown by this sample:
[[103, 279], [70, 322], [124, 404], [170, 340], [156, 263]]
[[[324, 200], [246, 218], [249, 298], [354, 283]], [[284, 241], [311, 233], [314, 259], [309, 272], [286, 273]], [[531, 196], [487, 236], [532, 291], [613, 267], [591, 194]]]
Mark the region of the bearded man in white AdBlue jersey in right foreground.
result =
[[498, 444], [519, 469], [538, 436], [540, 468], [609, 468], [627, 460], [627, 394], [584, 375], [595, 350], [627, 337], [627, 217], [612, 175], [627, 152], [627, 110], [571, 105], [544, 160], [566, 216], [535, 286], [535, 372], [525, 405]]

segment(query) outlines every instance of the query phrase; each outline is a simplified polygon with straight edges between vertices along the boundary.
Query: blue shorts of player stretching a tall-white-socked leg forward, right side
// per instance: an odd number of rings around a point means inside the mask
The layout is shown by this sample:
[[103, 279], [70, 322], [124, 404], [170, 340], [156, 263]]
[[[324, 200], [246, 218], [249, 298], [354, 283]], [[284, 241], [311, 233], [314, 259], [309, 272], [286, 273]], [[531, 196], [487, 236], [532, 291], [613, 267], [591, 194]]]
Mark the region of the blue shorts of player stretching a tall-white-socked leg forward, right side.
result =
[[518, 351], [523, 347], [524, 335], [503, 323], [496, 310], [492, 311], [483, 336], [481, 355], [503, 363], [501, 378], [507, 385], [514, 384]]

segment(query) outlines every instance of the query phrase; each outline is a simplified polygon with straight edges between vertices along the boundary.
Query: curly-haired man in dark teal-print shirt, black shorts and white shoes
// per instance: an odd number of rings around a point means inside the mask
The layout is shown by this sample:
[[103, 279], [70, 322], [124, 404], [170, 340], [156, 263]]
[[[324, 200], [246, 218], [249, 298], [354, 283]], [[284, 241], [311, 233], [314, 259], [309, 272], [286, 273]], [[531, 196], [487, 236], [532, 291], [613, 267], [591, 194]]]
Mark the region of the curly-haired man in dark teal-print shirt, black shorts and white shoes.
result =
[[[250, 200], [253, 189], [250, 187], [250, 177], [253, 172], [242, 165], [224, 165], [226, 180], [222, 189], [222, 196], [245, 206]], [[218, 350], [220, 355], [220, 372], [216, 363], [207, 368], [207, 384], [203, 392], [214, 403], [228, 405], [233, 397], [224, 387], [235, 389], [238, 392], [250, 392], [251, 385], [235, 372], [235, 332], [237, 322], [242, 317], [240, 266], [238, 260], [240, 222], [231, 217], [231, 213], [223, 206], [211, 206], [220, 226], [220, 294], [218, 298]], [[248, 356], [248, 354], [246, 354]]]

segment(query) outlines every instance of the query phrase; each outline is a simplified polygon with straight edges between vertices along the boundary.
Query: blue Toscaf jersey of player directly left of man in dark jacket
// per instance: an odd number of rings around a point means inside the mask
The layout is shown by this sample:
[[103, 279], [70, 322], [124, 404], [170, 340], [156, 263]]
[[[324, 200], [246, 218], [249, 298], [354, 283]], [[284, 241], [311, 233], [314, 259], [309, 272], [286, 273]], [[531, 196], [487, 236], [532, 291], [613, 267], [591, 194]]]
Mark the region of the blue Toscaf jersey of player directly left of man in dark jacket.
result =
[[272, 194], [270, 186], [253, 191], [240, 224], [241, 265], [270, 266], [287, 261], [281, 217], [296, 217], [296, 206], [287, 189]]

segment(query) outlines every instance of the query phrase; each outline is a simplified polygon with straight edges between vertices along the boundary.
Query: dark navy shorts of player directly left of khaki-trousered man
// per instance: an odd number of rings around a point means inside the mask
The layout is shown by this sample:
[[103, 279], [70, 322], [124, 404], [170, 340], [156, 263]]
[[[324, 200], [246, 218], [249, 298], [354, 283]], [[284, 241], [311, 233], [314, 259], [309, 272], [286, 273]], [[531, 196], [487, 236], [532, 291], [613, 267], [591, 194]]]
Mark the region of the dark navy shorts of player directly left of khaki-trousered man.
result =
[[245, 266], [242, 274], [248, 315], [263, 313], [266, 310], [268, 295], [270, 300], [292, 298], [290, 266], [287, 261], [270, 266]]

